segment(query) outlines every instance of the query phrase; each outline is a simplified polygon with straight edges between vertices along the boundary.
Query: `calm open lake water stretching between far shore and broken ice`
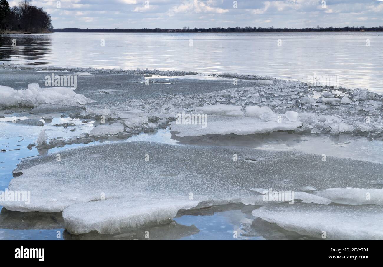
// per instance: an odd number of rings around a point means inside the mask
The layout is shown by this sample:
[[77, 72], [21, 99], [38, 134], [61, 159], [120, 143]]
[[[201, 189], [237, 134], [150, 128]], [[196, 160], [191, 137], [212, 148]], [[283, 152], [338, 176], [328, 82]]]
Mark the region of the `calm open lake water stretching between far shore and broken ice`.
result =
[[[282, 46], [277, 45], [278, 39]], [[367, 39], [370, 46], [366, 46]], [[303, 81], [314, 74], [339, 75], [344, 87], [380, 92], [382, 48], [383, 33], [369, 32], [0, 35], [0, 61], [8, 63], [236, 72]]]

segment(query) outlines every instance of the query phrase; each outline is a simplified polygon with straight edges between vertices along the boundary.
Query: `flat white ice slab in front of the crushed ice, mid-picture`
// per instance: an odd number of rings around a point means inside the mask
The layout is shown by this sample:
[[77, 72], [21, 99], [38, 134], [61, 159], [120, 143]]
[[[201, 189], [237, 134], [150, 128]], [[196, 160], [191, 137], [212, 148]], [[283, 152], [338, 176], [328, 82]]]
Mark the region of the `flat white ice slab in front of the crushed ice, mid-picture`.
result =
[[177, 124], [176, 121], [170, 123], [172, 131], [179, 132], [178, 137], [183, 136], [201, 136], [206, 134], [254, 134], [271, 133], [274, 131], [295, 130], [302, 126], [301, 121], [283, 120], [278, 123], [277, 120], [265, 121], [258, 118], [236, 118], [226, 116], [209, 116], [206, 127], [199, 124]]

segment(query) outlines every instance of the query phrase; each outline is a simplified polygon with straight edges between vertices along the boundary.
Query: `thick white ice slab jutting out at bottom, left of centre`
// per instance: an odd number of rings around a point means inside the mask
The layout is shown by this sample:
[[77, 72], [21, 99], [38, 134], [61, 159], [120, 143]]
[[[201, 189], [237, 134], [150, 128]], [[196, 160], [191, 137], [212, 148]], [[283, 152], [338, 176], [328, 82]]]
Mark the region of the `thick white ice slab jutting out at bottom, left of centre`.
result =
[[127, 202], [110, 199], [74, 204], [62, 212], [65, 229], [70, 233], [119, 233], [140, 228], [142, 225], [160, 224], [173, 219], [180, 209], [189, 209], [198, 201], [179, 199], [140, 199]]

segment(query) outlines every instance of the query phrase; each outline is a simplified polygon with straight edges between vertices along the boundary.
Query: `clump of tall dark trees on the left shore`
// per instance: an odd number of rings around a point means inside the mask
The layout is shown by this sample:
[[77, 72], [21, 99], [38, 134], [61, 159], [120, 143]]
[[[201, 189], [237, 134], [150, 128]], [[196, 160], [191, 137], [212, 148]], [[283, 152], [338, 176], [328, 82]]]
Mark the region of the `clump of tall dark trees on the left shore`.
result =
[[53, 28], [51, 15], [43, 8], [31, 5], [31, 0], [22, 0], [10, 8], [7, 0], [0, 0], [0, 31], [41, 32]]

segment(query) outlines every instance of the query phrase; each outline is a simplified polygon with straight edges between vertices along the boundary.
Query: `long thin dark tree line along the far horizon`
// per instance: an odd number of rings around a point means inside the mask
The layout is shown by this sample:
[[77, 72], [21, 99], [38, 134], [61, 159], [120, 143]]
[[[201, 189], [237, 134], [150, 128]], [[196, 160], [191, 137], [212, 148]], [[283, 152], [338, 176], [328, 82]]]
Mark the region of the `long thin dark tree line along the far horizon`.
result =
[[329, 28], [301, 28], [301, 29], [291, 29], [291, 28], [262, 28], [262, 27], [250, 27], [246, 26], [245, 28], [235, 27], [235, 28], [193, 28], [183, 27], [183, 29], [79, 29], [79, 28], [64, 28], [64, 29], [51, 29], [51, 31], [58, 33], [197, 33], [197, 32], [213, 32], [213, 33], [263, 33], [263, 32], [322, 32], [322, 31], [383, 31], [383, 26], [378, 27], [329, 27]]

